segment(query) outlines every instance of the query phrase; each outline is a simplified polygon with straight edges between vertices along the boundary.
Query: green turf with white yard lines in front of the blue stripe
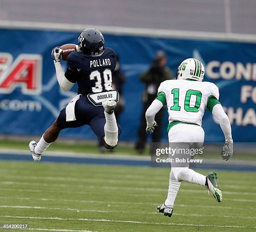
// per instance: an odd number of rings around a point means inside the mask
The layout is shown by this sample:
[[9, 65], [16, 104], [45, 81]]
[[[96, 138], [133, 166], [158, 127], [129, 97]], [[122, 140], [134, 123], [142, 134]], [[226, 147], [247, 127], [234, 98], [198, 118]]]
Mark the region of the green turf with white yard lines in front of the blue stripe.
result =
[[1, 161], [0, 224], [41, 231], [255, 231], [256, 173], [217, 173], [223, 202], [183, 182], [168, 218], [155, 211], [166, 198], [168, 169]]

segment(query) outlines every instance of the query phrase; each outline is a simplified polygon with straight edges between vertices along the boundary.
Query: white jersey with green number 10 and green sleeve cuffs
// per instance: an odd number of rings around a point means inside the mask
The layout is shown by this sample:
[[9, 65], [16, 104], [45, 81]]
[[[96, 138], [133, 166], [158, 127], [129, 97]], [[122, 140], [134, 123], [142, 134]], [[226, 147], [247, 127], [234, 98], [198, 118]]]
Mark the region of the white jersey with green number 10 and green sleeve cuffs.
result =
[[212, 111], [208, 98], [214, 99], [213, 107], [219, 100], [218, 87], [211, 82], [192, 80], [164, 81], [159, 86], [157, 97], [167, 105], [169, 123], [180, 121], [199, 126], [202, 125], [205, 108], [210, 107]]

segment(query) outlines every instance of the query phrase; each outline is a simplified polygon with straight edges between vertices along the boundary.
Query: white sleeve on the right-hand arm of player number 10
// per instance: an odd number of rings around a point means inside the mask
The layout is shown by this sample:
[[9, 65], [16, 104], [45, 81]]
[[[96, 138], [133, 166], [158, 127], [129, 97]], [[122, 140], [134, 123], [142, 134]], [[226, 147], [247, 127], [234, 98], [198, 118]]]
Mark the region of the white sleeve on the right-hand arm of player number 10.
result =
[[231, 135], [231, 126], [230, 121], [228, 119], [228, 116], [224, 112], [222, 106], [220, 104], [216, 104], [212, 108], [212, 115], [218, 119], [220, 123], [220, 128], [222, 129], [224, 135], [225, 135], [225, 141], [226, 143], [232, 143], [232, 135]]

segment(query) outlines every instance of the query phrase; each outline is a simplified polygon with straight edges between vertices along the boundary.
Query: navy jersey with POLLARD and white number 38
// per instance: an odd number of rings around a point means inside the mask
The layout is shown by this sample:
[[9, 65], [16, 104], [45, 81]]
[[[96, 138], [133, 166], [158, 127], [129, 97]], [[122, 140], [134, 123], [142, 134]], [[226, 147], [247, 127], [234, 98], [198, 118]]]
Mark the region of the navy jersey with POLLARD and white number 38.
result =
[[67, 57], [67, 66], [76, 68], [77, 75], [67, 79], [77, 81], [78, 93], [100, 93], [112, 90], [112, 74], [116, 65], [116, 53], [105, 48], [102, 55], [91, 56], [81, 52], [72, 52]]

